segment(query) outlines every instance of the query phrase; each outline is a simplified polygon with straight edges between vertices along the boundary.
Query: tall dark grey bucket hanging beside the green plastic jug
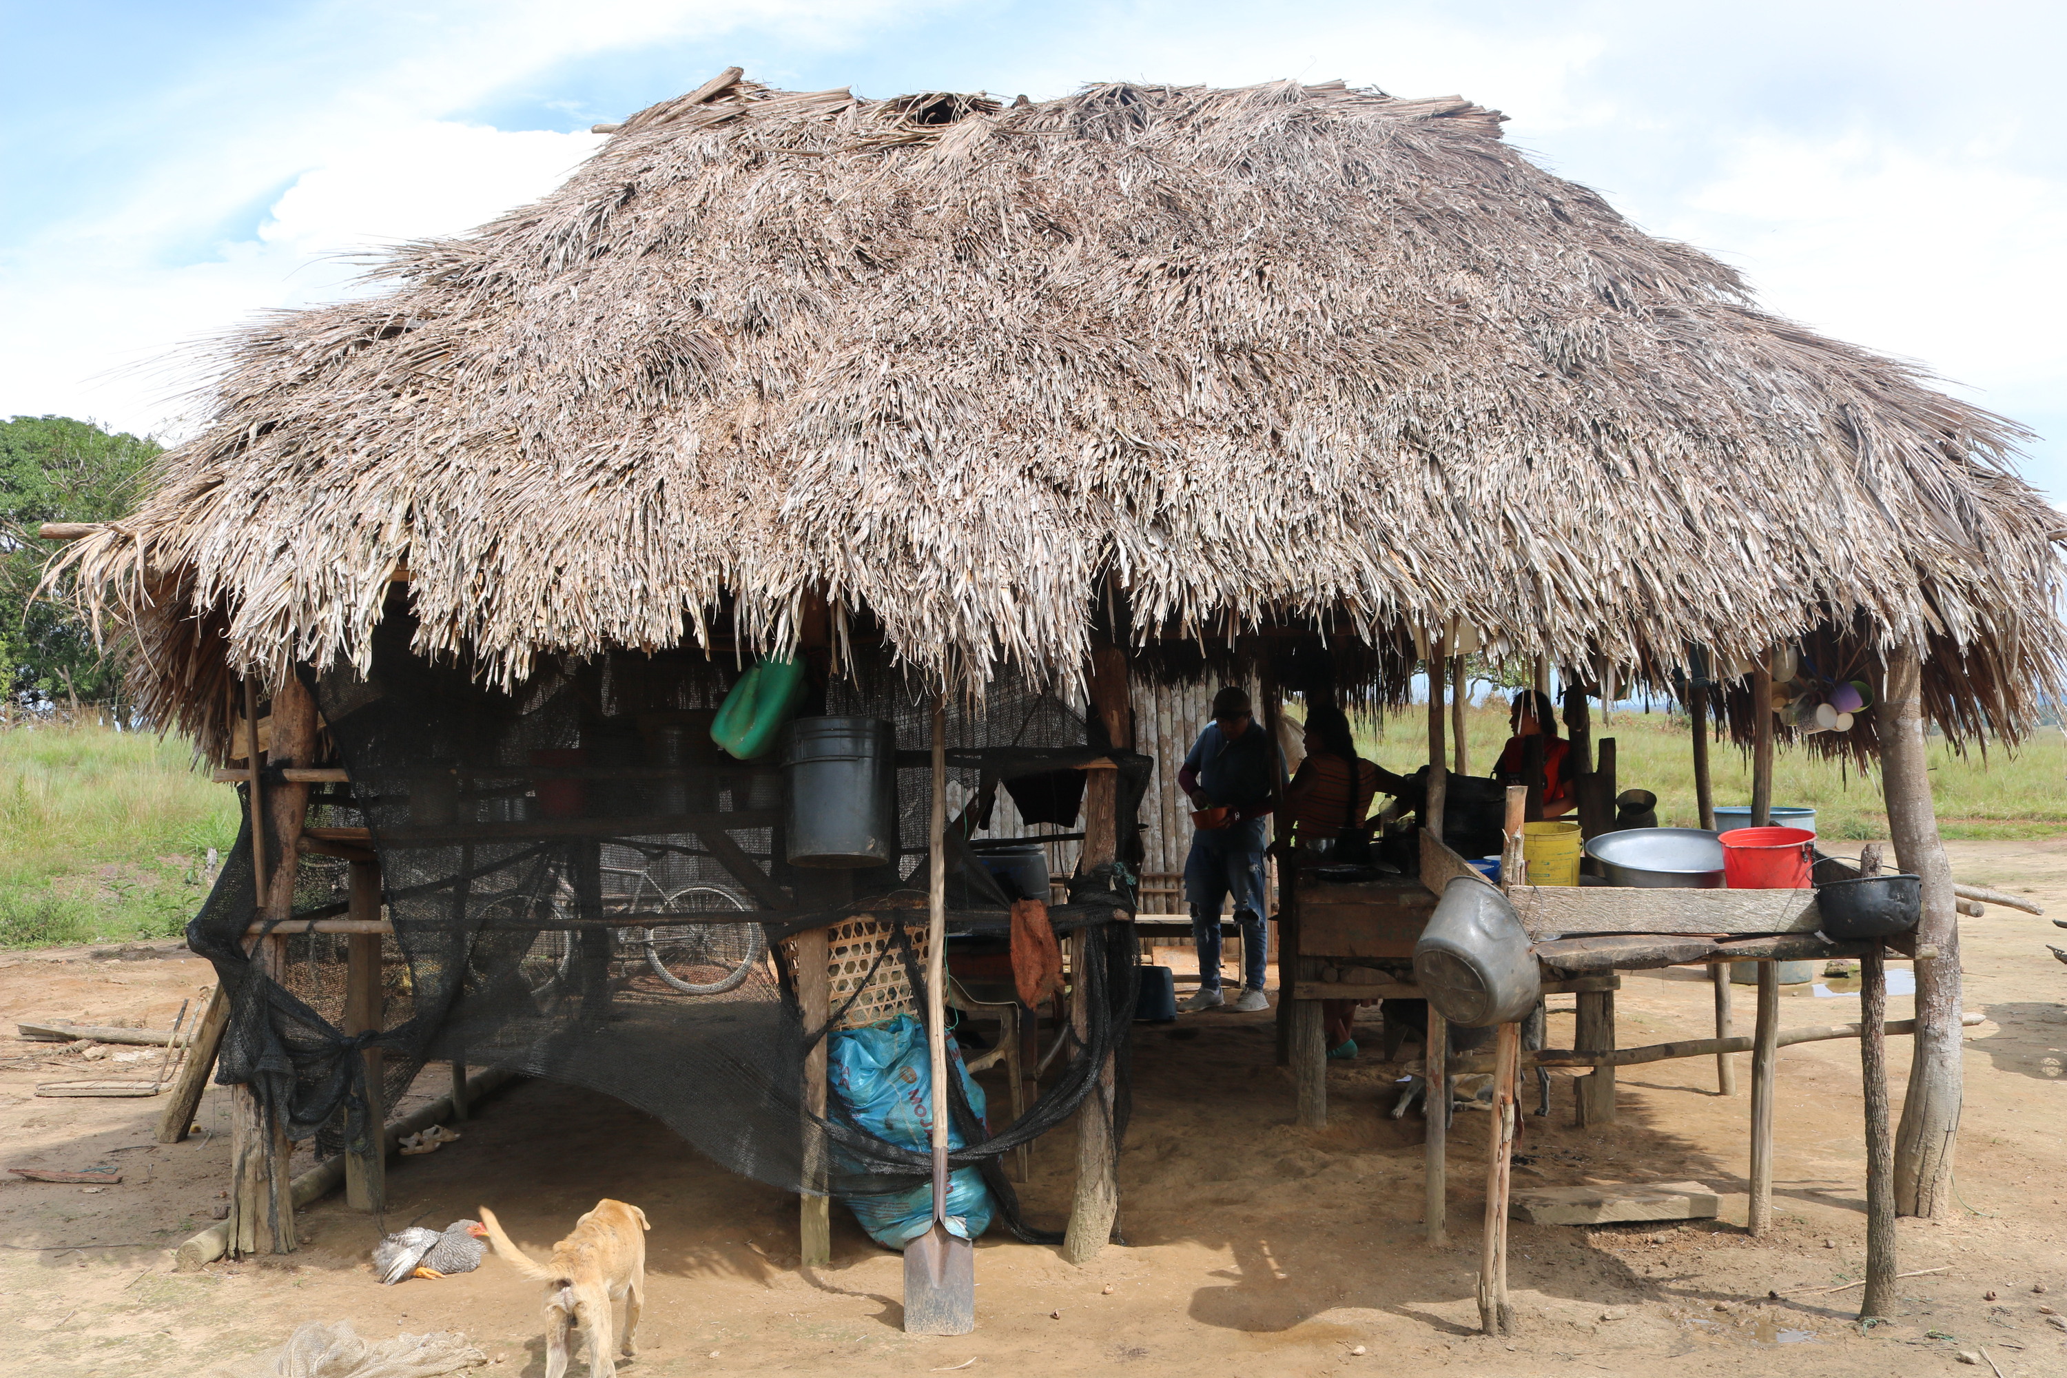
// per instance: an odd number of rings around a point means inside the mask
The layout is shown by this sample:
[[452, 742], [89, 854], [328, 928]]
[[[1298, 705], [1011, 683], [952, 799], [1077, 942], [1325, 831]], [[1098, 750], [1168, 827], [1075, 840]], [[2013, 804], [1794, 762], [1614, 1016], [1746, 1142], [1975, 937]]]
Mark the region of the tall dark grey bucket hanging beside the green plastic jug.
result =
[[897, 729], [874, 717], [800, 717], [783, 740], [790, 866], [897, 859]]

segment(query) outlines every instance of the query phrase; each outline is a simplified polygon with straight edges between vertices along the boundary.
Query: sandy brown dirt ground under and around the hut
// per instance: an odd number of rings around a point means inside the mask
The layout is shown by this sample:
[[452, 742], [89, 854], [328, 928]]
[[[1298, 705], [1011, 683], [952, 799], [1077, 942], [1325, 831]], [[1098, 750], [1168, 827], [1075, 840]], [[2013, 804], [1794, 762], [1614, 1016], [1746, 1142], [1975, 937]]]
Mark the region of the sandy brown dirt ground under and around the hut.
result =
[[[1951, 843], [1962, 880], [2028, 892], [2067, 915], [2067, 837]], [[0, 1039], [4, 1167], [118, 1163], [120, 1186], [0, 1184], [0, 1374], [246, 1374], [304, 1320], [360, 1335], [463, 1330], [486, 1374], [544, 1374], [539, 1289], [496, 1260], [444, 1281], [380, 1287], [368, 1250], [382, 1227], [444, 1227], [490, 1204], [537, 1254], [599, 1196], [641, 1204], [649, 1302], [626, 1374], [717, 1372], [1228, 1372], [1358, 1374], [1933, 1374], [1968, 1372], [1986, 1347], [2007, 1376], [2067, 1372], [2067, 967], [2046, 919], [1991, 909], [1968, 919], [1966, 1120], [1945, 1221], [1900, 1225], [1900, 1316], [1869, 1333], [1858, 1291], [1864, 1215], [1858, 1045], [1780, 1054], [1780, 1225], [1742, 1229], [1749, 1058], [1740, 1093], [1716, 1093], [1714, 1060], [1625, 1068], [1621, 1124], [1573, 1128], [1573, 1091], [1552, 1083], [1548, 1120], [1528, 1116], [1517, 1186], [1697, 1180], [1724, 1192], [1720, 1221], [1511, 1227], [1519, 1333], [1476, 1335], [1486, 1116], [1451, 1132], [1453, 1246], [1420, 1233], [1420, 1120], [1391, 1120], [1397, 1068], [1368, 1052], [1329, 1072], [1327, 1130], [1292, 1126], [1292, 1087], [1271, 1060], [1269, 1016], [1197, 1014], [1137, 1027], [1135, 1122], [1122, 1159], [1127, 1248], [1077, 1269], [1052, 1248], [992, 1231], [978, 1250], [978, 1330], [905, 1337], [901, 1264], [835, 1207], [831, 1269], [796, 1266], [794, 1198], [732, 1178], [657, 1122], [591, 1093], [519, 1083], [459, 1126], [463, 1138], [391, 1169], [384, 1221], [333, 1196], [302, 1215], [287, 1258], [174, 1273], [169, 1250], [209, 1223], [227, 1169], [221, 1091], [203, 1132], [157, 1147], [159, 1101], [37, 1099], [41, 1081], [134, 1074], [50, 1045]], [[211, 979], [192, 957], [118, 961], [107, 950], [0, 959], [0, 1021], [165, 1027]], [[1908, 1014], [1908, 998], [1889, 1002]], [[1569, 1045], [1571, 998], [1550, 1041]], [[1788, 988], [1788, 1025], [1856, 1019], [1856, 996]], [[1621, 1041], [1709, 1033], [1699, 973], [1625, 979]], [[1377, 1010], [1366, 1010], [1377, 1019]], [[1751, 992], [1738, 992], [1749, 1031]], [[1412, 1052], [1412, 1050], [1410, 1050]], [[1908, 1041], [1891, 1039], [1900, 1076]], [[143, 1070], [143, 1068], [136, 1068]], [[147, 1074], [147, 1072], [145, 1072]], [[426, 1085], [426, 1093], [430, 1093]], [[1900, 1097], [1900, 1081], [1895, 1083]], [[1044, 1142], [1025, 1196], [1058, 1223], [1071, 1138]], [[1769, 1297], [1771, 1291], [1784, 1299]], [[573, 1370], [583, 1374], [579, 1359]], [[1991, 1372], [1982, 1364], [1976, 1372]]]

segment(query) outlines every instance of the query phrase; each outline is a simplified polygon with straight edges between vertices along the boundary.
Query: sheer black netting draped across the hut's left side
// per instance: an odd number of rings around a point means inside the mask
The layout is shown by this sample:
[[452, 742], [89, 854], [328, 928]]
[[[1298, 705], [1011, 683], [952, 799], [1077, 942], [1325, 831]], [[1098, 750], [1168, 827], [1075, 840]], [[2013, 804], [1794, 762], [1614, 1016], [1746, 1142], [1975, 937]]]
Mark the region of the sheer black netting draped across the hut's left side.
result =
[[[738, 678], [730, 665], [701, 653], [620, 653], [546, 665], [500, 692], [463, 665], [413, 655], [409, 630], [391, 612], [370, 674], [335, 671], [314, 684], [351, 783], [310, 795], [308, 831], [347, 843], [349, 828], [372, 835], [393, 923], [380, 938], [382, 1027], [343, 1033], [345, 936], [287, 936], [279, 979], [244, 954], [254, 913], [246, 808], [238, 849], [188, 930], [232, 994], [217, 1081], [250, 1083], [291, 1138], [316, 1136], [318, 1153], [335, 1153], [366, 1132], [356, 1054], [378, 1045], [384, 1105], [426, 1062], [463, 1060], [618, 1097], [773, 1186], [856, 1196], [924, 1182], [924, 1147], [870, 1134], [837, 1097], [816, 1122], [833, 1145], [829, 1176], [806, 1167], [814, 1120], [804, 1109], [804, 1060], [827, 1031], [806, 1027], [779, 944], [847, 915], [878, 915], [891, 940], [876, 961], [905, 967], [914, 992], [905, 1008], [922, 1012], [912, 938], [926, 923], [930, 700], [895, 669], [850, 667], [804, 704], [885, 719], [897, 746], [897, 859], [804, 870], [785, 859], [777, 760], [742, 764], [711, 744], [713, 713]], [[992, 1093], [986, 1130], [959, 1078], [949, 1078], [969, 1145], [953, 1163], [984, 1169], [1009, 1225], [1027, 1240], [1050, 1235], [1019, 1217], [1000, 1157], [1062, 1124], [1108, 1056], [1120, 1072], [1114, 1132], [1124, 1132], [1137, 944], [1110, 915], [1135, 907], [1133, 818], [1149, 762], [1110, 752], [1093, 733], [1056, 696], [1011, 678], [980, 704], [947, 713], [959, 839], [947, 868], [951, 965], [984, 957], [994, 965], [1009, 952], [1015, 895], [982, 864], [996, 845], [986, 828], [998, 793], [1036, 802], [1054, 835], [1075, 837], [1062, 828], [1083, 793], [1081, 766], [1118, 764], [1120, 862], [1071, 878], [1071, 903], [1050, 911], [1058, 936], [1089, 934], [1073, 975], [1089, 996], [1087, 1029], [1050, 1021], [1040, 1033], [1056, 1056], [1038, 1099], [1011, 1124]], [[267, 781], [285, 783], [277, 769]], [[265, 841], [277, 857], [281, 839]], [[347, 886], [347, 862], [304, 855], [296, 917], [345, 913]], [[835, 1000], [831, 1023], [839, 1027], [845, 1012]]]

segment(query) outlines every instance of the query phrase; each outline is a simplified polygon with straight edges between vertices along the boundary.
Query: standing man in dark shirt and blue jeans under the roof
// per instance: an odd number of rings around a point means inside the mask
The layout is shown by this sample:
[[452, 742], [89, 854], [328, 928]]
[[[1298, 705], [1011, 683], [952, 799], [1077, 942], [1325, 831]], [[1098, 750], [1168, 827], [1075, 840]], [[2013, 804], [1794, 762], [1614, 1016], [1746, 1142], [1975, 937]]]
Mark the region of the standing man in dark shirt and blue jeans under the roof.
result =
[[1184, 899], [1191, 905], [1191, 938], [1199, 948], [1199, 994], [1184, 1010], [1226, 1004], [1220, 994], [1220, 907], [1234, 897], [1234, 921], [1242, 932], [1240, 1012], [1267, 1010], [1263, 994], [1263, 851], [1269, 847], [1271, 773], [1277, 750], [1257, 727], [1248, 694], [1228, 686], [1213, 694], [1213, 721], [1184, 756], [1178, 785], [1197, 810], [1191, 855], [1184, 857]]

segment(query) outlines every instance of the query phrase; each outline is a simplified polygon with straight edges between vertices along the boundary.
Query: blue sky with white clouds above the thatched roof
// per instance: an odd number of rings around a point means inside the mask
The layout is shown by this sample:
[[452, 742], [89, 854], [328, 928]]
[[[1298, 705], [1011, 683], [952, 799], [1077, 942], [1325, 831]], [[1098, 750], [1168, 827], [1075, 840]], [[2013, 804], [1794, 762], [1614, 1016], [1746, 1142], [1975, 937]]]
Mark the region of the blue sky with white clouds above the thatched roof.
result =
[[2067, 6], [1747, 0], [0, 0], [0, 415], [178, 436], [192, 353], [341, 254], [546, 192], [740, 64], [864, 95], [1277, 76], [1461, 93], [1773, 310], [1920, 359], [2067, 502]]

